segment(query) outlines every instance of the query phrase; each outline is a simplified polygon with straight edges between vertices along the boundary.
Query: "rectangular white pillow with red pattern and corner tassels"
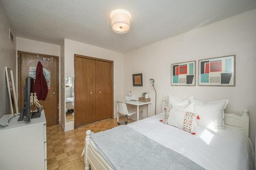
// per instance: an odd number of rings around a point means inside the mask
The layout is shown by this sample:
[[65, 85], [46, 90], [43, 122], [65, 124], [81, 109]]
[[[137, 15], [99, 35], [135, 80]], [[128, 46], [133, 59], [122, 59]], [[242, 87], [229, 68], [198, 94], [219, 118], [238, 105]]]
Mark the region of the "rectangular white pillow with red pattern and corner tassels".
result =
[[168, 125], [196, 134], [195, 129], [197, 127], [197, 117], [198, 115], [195, 113], [173, 109], [170, 113]]

